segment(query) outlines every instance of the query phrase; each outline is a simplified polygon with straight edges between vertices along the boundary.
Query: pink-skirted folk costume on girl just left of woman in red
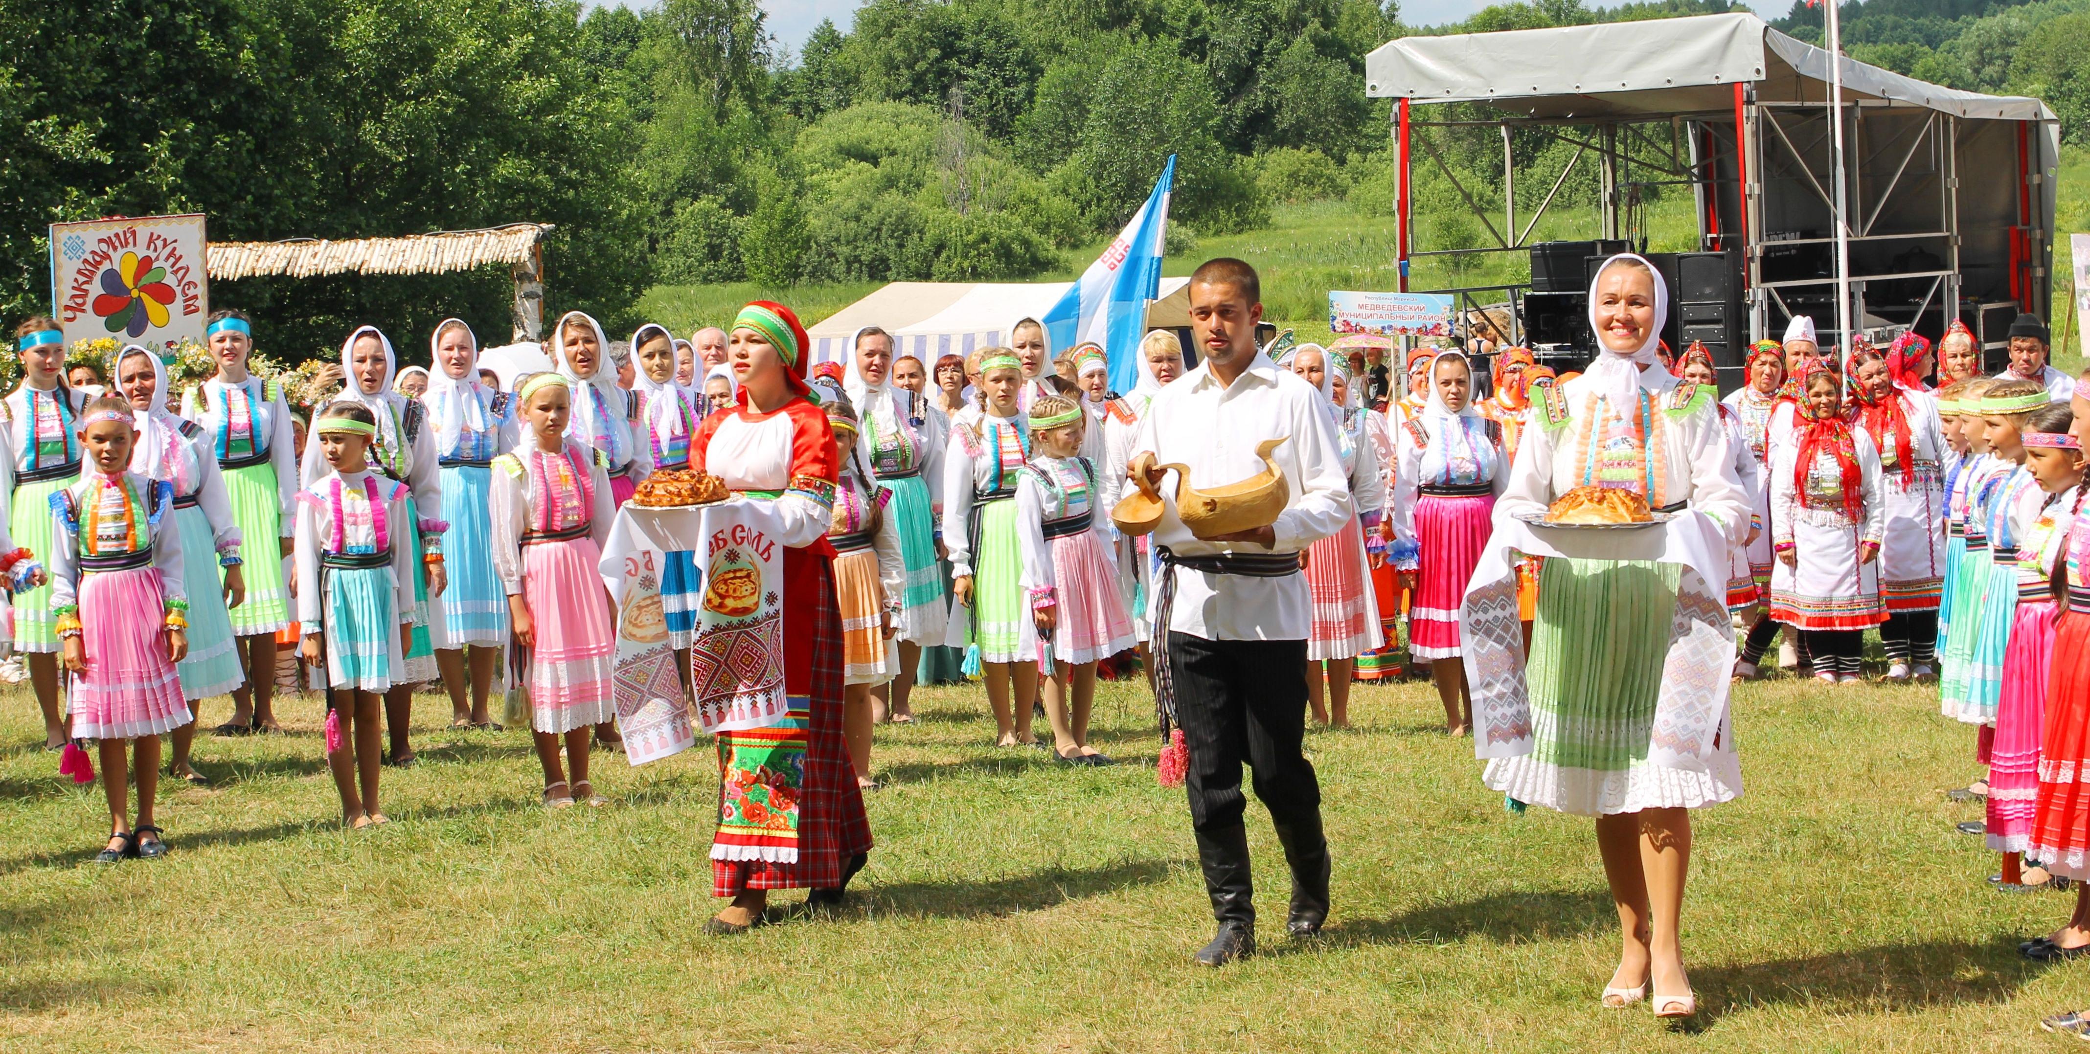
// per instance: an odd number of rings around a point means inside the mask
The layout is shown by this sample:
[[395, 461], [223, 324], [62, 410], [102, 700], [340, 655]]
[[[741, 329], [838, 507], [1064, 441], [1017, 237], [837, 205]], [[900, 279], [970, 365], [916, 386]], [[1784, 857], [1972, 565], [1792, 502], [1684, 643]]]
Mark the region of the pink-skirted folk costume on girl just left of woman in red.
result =
[[[533, 376], [556, 385], [554, 376]], [[518, 397], [535, 391], [525, 385]], [[617, 717], [617, 636], [596, 567], [617, 510], [602, 458], [575, 441], [558, 454], [522, 437], [493, 458], [493, 571], [537, 627], [529, 648], [531, 730], [566, 734]]]

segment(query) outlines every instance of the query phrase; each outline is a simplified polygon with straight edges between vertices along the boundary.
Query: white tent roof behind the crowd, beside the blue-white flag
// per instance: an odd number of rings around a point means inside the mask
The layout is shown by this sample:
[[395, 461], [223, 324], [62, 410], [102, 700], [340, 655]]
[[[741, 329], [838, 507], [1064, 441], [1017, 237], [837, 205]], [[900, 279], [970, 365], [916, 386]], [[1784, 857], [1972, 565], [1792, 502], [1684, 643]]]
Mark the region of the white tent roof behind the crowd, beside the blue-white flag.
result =
[[[863, 326], [895, 337], [895, 353], [934, 364], [1007, 343], [1020, 318], [1043, 318], [1074, 282], [890, 282], [807, 328], [813, 362], [840, 362]], [[1189, 278], [1162, 278], [1147, 326], [1189, 324]]]

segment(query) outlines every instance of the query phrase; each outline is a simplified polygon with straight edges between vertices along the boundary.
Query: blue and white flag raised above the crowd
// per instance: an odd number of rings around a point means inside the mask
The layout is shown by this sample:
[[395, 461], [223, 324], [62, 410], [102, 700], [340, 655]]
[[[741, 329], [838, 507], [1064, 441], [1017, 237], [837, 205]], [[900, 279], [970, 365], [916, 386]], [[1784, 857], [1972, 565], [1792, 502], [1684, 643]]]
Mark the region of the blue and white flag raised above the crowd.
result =
[[1147, 301], [1160, 297], [1172, 184], [1175, 155], [1168, 155], [1162, 178], [1147, 203], [1133, 213], [1133, 222], [1089, 264], [1074, 289], [1045, 312], [1043, 322], [1055, 349], [1083, 341], [1104, 345], [1112, 391], [1133, 391], [1139, 385], [1139, 339], [1147, 335]]

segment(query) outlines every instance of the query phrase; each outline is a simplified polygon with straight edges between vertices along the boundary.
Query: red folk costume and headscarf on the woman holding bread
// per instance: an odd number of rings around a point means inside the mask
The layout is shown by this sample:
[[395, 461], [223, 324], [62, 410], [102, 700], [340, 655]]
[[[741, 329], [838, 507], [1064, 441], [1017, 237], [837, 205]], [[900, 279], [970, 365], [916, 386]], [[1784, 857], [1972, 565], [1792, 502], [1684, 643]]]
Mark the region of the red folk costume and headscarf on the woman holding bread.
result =
[[[834, 429], [805, 385], [809, 343], [788, 307], [757, 301], [734, 330], [759, 333], [784, 360], [794, 397], [761, 412], [738, 404], [704, 418], [690, 466], [746, 500], [767, 502], [784, 546], [782, 665], [786, 705], [759, 726], [719, 734], [719, 832], [713, 895], [748, 889], [840, 889], [872, 849], [863, 793], [842, 742], [842, 617], [834, 594]], [[690, 646], [706, 652], [704, 634]], [[702, 686], [709, 678], [692, 678]], [[698, 701], [702, 703], [702, 698]]]

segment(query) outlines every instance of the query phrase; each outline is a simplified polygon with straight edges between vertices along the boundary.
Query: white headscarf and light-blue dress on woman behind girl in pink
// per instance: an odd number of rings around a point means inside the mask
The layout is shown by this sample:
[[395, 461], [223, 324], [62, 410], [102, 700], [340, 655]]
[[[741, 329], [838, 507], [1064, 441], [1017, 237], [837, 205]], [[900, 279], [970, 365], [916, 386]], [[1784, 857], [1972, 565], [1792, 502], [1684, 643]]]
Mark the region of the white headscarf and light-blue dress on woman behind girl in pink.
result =
[[[441, 368], [435, 345], [443, 330], [462, 328], [472, 341], [472, 360], [464, 376]], [[514, 395], [479, 383], [479, 337], [456, 318], [445, 318], [428, 339], [437, 370], [428, 379], [422, 406], [435, 429], [435, 464], [443, 491], [443, 571], [441, 594], [445, 640], [451, 648], [466, 644], [500, 648], [508, 644], [508, 592], [493, 573], [493, 519], [487, 496], [493, 494], [493, 458], [516, 445]]]

